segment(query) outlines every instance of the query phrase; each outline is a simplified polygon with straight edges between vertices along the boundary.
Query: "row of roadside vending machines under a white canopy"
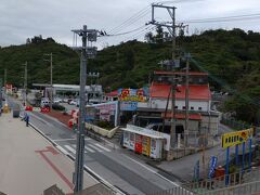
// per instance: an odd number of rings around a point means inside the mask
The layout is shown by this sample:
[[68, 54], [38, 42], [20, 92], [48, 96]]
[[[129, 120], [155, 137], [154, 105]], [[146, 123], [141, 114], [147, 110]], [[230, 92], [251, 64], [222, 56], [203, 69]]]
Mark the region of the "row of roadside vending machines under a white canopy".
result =
[[169, 150], [169, 134], [131, 125], [128, 125], [127, 128], [122, 128], [122, 145], [138, 154], [160, 159], [162, 151]]

